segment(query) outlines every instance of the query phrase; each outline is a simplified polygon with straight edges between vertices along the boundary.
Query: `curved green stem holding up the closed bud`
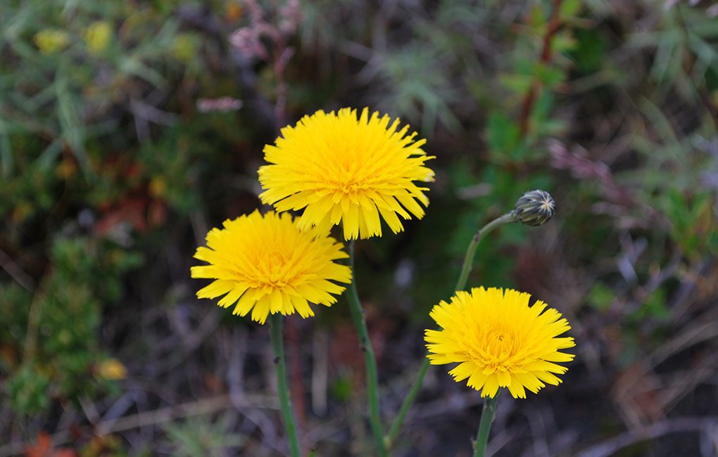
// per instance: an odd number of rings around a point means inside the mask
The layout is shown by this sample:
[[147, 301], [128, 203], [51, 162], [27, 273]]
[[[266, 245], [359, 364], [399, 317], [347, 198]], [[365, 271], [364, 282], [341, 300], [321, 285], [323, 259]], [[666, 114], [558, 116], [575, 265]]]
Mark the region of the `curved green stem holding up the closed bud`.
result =
[[[479, 245], [479, 242], [481, 242], [481, 240], [483, 239], [483, 237], [485, 237], [495, 228], [500, 227], [504, 224], [510, 224], [511, 222], [516, 222], [516, 216], [513, 215], [513, 211], [507, 212], [505, 215], [497, 217], [495, 220], [481, 227], [475, 233], [474, 237], [469, 243], [469, 246], [466, 248], [466, 254], [464, 255], [464, 264], [461, 267], [461, 273], [459, 273], [459, 280], [456, 283], [454, 291], [462, 291], [466, 287], [466, 283], [467, 281], [469, 281], [469, 273], [471, 273], [471, 270], [474, 265], [476, 248]], [[401, 432], [401, 425], [403, 425], [404, 423], [406, 413], [409, 413], [411, 405], [414, 404], [414, 400], [416, 400], [416, 395], [418, 395], [419, 390], [421, 390], [421, 383], [424, 382], [424, 375], [426, 375], [427, 371], [429, 371], [429, 359], [424, 357], [424, 361], [421, 362], [421, 367], [419, 367], [419, 372], [416, 374], [416, 381], [414, 381], [414, 385], [411, 386], [411, 390], [409, 390], [409, 395], [406, 395], [406, 397], [404, 398], [404, 402], [401, 403], [401, 407], [399, 408], [399, 412], [396, 415], [396, 419], [394, 419], [394, 423], [391, 425], [389, 433], [386, 435], [385, 441], [387, 448], [391, 448], [391, 444], [394, 442], [394, 440], [396, 440], [396, 437], [398, 436], [399, 432]]]

